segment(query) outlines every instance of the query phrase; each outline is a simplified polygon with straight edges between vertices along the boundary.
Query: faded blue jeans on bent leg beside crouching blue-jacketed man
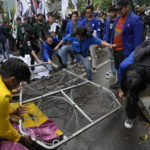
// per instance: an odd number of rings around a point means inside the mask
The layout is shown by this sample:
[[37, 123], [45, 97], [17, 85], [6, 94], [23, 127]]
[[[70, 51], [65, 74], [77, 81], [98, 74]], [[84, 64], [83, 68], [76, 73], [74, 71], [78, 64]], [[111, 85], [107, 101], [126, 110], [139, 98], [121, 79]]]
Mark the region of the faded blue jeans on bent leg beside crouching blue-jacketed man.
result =
[[66, 66], [68, 65], [68, 58], [67, 58], [68, 53], [71, 55], [71, 58], [74, 59], [75, 56], [74, 56], [74, 50], [73, 50], [72, 45], [64, 45], [61, 48], [62, 64]]

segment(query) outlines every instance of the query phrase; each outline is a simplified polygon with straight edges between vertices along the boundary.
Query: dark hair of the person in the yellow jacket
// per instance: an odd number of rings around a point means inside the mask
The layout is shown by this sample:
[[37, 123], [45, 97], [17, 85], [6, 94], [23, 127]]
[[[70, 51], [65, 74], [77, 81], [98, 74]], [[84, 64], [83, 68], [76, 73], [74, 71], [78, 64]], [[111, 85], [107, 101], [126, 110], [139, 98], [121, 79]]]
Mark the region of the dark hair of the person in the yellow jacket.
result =
[[0, 75], [2, 78], [15, 77], [18, 82], [30, 81], [31, 72], [21, 59], [9, 58], [5, 61], [0, 69]]

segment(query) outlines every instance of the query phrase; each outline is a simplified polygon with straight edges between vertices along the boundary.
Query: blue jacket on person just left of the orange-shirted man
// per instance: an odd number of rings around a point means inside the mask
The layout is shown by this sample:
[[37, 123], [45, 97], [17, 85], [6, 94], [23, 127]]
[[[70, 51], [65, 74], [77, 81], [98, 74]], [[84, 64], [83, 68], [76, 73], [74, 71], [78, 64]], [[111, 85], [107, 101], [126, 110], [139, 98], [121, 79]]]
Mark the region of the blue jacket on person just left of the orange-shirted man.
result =
[[[109, 41], [109, 27], [110, 27], [110, 21], [111, 18], [105, 19], [105, 27], [104, 27], [104, 41], [108, 42]], [[115, 23], [115, 21], [114, 21]], [[113, 26], [114, 26], [113, 23]], [[112, 36], [112, 34], [111, 34]], [[111, 37], [110, 37], [111, 38]]]

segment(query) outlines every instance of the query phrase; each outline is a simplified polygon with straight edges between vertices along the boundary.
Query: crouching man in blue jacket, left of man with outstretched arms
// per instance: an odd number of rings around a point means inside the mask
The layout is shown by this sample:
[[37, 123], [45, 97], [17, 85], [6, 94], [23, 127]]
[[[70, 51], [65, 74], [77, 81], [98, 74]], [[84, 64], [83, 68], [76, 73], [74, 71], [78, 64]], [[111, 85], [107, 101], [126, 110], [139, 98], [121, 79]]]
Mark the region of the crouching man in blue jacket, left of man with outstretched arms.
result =
[[[52, 55], [54, 53], [53, 49], [57, 46], [59, 42], [60, 40], [58, 40], [56, 37], [48, 35], [46, 41], [43, 43], [42, 60], [43, 62], [48, 62], [46, 67], [50, 72], [53, 70], [52, 67]], [[56, 56], [58, 56], [61, 64], [61, 49], [56, 51]]]

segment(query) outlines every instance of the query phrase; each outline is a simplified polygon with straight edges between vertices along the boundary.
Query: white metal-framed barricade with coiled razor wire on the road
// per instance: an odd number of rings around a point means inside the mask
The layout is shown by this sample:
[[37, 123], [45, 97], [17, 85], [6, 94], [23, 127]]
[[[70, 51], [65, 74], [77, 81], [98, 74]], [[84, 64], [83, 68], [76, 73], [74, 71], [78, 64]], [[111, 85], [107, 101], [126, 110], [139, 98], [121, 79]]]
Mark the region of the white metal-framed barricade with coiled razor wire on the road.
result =
[[[63, 132], [61, 140], [48, 143], [42, 139], [38, 128], [40, 138], [32, 140], [45, 149], [61, 146], [121, 108], [109, 89], [77, 75], [73, 68], [59, 70], [50, 77], [31, 82], [31, 85], [24, 83], [20, 105], [30, 102], [34, 102], [43, 114], [52, 118]], [[32, 117], [36, 118], [36, 115]], [[38, 127], [38, 119], [35, 120]], [[19, 129], [22, 134], [27, 134], [23, 119], [20, 119]]]

